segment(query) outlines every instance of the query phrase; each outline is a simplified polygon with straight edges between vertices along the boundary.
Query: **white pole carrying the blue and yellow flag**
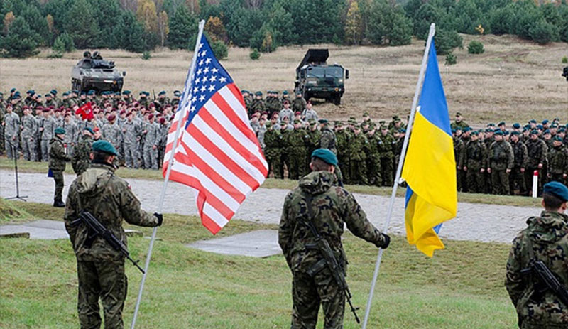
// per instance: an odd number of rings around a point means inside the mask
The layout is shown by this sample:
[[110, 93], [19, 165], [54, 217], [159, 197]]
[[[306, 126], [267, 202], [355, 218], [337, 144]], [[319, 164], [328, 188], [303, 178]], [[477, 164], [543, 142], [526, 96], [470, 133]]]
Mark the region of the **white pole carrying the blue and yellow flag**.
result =
[[[408, 126], [406, 135], [404, 136], [403, 151], [400, 152], [400, 161], [398, 161], [398, 167], [396, 168], [395, 183], [393, 185], [393, 193], [391, 194], [391, 201], [388, 203], [388, 211], [386, 215], [386, 222], [383, 227], [382, 232], [388, 231], [388, 226], [391, 224], [391, 217], [393, 215], [393, 205], [395, 203], [396, 189], [398, 188], [398, 180], [400, 180], [400, 173], [403, 171], [403, 163], [406, 156], [406, 146], [408, 146], [408, 139], [410, 137], [410, 131], [412, 130], [414, 122], [414, 114], [416, 112], [416, 105], [418, 104], [418, 94], [420, 93], [420, 87], [422, 87], [422, 80], [424, 80], [424, 73], [426, 71], [428, 53], [430, 53], [430, 44], [432, 43], [432, 38], [434, 38], [434, 33], [436, 31], [435, 24], [430, 25], [430, 33], [428, 33], [428, 39], [426, 41], [426, 49], [424, 50], [424, 57], [422, 58], [422, 66], [420, 67], [420, 75], [418, 75], [418, 82], [416, 83], [416, 91], [414, 92], [413, 107], [410, 110], [410, 117], [408, 118]], [[373, 281], [371, 282], [371, 292], [368, 294], [367, 306], [365, 308], [365, 317], [363, 319], [363, 329], [367, 328], [368, 315], [371, 311], [371, 302], [373, 301], [373, 292], [375, 291], [375, 284], [378, 277], [378, 271], [381, 268], [381, 259], [383, 258], [383, 250], [378, 250], [377, 262], [375, 264], [375, 272], [373, 273]]]

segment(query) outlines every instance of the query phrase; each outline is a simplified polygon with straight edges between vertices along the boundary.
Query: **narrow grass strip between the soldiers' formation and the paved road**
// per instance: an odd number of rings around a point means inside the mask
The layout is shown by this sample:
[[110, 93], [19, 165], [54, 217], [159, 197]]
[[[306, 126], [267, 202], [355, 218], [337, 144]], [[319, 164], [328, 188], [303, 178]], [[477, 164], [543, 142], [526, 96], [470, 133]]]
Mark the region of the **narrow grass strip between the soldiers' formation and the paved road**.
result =
[[[0, 169], [13, 170], [13, 161], [5, 156], [0, 157]], [[18, 161], [18, 171], [22, 173], [47, 173], [48, 163], [45, 162], [31, 162], [31, 161]], [[71, 166], [67, 166], [65, 173], [73, 174]], [[117, 171], [122, 178], [136, 178], [147, 180], [163, 180], [162, 171], [146, 171], [142, 169], [129, 169], [121, 167]], [[263, 188], [284, 188], [292, 189], [297, 186], [295, 180], [282, 180], [267, 178], [263, 183]], [[393, 188], [377, 188], [375, 186], [366, 185], [346, 185], [346, 189], [353, 193], [371, 194], [390, 196]], [[405, 193], [404, 188], [399, 188], [397, 196], [403, 197]], [[520, 207], [540, 207], [540, 199], [526, 198], [519, 196], [509, 195], [487, 195], [487, 194], [473, 194], [473, 193], [458, 193], [459, 202], [464, 203], [483, 203], [488, 205], [517, 205]]]

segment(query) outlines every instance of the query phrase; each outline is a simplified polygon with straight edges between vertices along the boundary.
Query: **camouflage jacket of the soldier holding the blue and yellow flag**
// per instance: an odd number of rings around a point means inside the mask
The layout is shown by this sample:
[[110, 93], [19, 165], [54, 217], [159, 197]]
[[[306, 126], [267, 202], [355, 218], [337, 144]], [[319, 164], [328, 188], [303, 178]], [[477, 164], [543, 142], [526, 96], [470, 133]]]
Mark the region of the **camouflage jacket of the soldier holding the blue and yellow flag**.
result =
[[344, 223], [356, 237], [376, 245], [383, 243], [383, 235], [367, 220], [354, 196], [344, 188], [333, 185], [334, 177], [327, 171], [314, 171], [301, 178], [298, 187], [286, 195], [278, 228], [278, 244], [292, 271], [307, 271], [322, 259], [319, 251], [306, 248], [306, 244], [313, 243], [315, 237], [298, 221], [302, 216], [310, 220], [306, 206], [307, 194], [312, 195], [314, 218], [311, 220], [320, 235], [329, 242], [344, 270], [347, 261], [342, 245]]

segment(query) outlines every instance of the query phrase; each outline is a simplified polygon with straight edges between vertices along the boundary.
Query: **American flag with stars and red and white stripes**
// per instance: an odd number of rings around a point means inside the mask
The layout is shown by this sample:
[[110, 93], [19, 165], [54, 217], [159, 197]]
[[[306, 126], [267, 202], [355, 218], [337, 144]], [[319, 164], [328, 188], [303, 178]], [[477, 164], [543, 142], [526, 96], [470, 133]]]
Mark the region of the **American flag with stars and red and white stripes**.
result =
[[263, 183], [268, 165], [239, 88], [215, 58], [205, 36], [197, 49], [193, 79], [188, 73], [168, 133], [163, 175], [181, 123], [170, 180], [194, 189], [202, 223], [216, 234], [246, 196]]

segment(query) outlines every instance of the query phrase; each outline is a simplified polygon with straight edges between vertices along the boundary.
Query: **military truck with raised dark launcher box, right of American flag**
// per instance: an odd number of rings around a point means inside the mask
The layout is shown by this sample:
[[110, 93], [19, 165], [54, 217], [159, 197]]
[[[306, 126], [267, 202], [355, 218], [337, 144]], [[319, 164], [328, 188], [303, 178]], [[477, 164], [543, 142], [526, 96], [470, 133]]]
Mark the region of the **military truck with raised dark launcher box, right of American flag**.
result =
[[323, 98], [339, 105], [345, 92], [344, 80], [349, 70], [342, 65], [327, 64], [329, 50], [309, 49], [296, 68], [295, 92], [302, 92], [306, 100]]

